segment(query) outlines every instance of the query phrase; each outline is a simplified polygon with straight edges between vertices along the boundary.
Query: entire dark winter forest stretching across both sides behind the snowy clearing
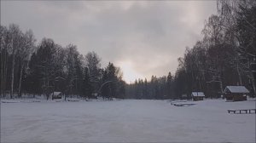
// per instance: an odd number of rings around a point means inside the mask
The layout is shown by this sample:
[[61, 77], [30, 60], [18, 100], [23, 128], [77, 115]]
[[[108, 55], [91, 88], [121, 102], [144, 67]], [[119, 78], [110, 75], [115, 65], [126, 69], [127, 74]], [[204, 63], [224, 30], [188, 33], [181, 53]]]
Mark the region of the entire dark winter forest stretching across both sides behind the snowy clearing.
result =
[[[80, 54], [73, 44], [53, 39], [37, 41], [33, 32], [15, 24], [0, 27], [1, 98], [60, 91], [70, 97], [179, 99], [203, 91], [219, 98], [227, 85], [243, 85], [256, 93], [256, 2], [217, 1], [201, 31], [202, 39], [177, 59], [175, 74], [125, 83], [122, 70], [109, 62], [101, 66], [96, 52]], [[86, 48], [84, 48], [86, 49]]]

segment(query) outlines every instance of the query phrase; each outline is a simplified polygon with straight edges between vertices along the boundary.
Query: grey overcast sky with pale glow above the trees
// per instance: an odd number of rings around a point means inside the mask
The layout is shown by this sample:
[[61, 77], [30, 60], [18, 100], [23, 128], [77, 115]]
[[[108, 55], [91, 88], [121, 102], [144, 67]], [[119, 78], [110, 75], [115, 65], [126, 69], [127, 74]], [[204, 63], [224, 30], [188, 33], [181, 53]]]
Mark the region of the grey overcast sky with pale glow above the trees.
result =
[[1, 1], [1, 25], [15, 23], [81, 54], [96, 51], [102, 66], [120, 66], [127, 83], [175, 73], [177, 58], [201, 39], [215, 1]]

